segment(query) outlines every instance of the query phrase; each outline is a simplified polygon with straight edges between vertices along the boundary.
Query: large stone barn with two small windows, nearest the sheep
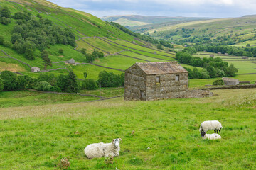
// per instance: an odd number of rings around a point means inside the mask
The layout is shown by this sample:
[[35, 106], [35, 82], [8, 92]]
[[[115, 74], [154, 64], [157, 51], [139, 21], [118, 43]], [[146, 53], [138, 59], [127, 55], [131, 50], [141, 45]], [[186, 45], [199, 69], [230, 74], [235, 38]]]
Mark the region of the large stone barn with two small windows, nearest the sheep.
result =
[[125, 71], [125, 100], [187, 97], [188, 71], [178, 62], [137, 62]]

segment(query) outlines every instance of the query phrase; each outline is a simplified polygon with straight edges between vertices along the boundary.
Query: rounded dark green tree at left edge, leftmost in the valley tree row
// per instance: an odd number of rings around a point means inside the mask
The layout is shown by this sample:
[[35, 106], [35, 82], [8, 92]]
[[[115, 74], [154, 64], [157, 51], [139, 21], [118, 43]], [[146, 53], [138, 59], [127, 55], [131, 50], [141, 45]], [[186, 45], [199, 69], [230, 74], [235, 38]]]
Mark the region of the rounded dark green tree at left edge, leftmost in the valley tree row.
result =
[[4, 91], [16, 90], [18, 84], [18, 77], [15, 73], [10, 71], [3, 71], [0, 74], [0, 78], [4, 83]]

